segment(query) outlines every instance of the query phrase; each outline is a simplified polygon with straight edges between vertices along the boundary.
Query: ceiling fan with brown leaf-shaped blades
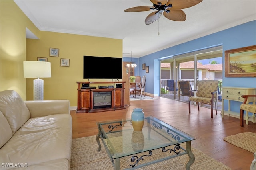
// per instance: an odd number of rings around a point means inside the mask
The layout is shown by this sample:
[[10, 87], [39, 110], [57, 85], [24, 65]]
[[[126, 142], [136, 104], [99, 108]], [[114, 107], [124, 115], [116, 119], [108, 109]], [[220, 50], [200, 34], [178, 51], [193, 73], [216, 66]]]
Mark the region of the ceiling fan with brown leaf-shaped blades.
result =
[[156, 21], [162, 13], [169, 20], [173, 21], [185, 21], [186, 14], [181, 9], [192, 7], [196, 4], [202, 2], [202, 0], [150, 0], [153, 6], [136, 6], [133, 8], [128, 8], [124, 10], [125, 12], [140, 12], [140, 11], [150, 11], [157, 10], [150, 13], [146, 19], [146, 25]]

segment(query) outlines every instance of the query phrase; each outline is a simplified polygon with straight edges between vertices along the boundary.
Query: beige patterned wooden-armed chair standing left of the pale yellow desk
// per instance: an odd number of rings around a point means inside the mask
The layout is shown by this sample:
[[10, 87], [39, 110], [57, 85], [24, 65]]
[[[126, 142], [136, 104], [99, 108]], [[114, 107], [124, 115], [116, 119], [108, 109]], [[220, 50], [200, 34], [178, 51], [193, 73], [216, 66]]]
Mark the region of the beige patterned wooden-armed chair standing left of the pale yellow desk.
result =
[[[217, 97], [218, 84], [216, 80], [202, 80], [197, 82], [197, 90], [189, 90], [188, 110], [190, 113], [190, 101], [196, 102], [199, 111], [199, 103], [211, 105], [211, 118], [213, 118], [213, 103], [215, 103], [215, 111], [217, 114]], [[196, 96], [192, 96], [192, 92], [196, 92]]]

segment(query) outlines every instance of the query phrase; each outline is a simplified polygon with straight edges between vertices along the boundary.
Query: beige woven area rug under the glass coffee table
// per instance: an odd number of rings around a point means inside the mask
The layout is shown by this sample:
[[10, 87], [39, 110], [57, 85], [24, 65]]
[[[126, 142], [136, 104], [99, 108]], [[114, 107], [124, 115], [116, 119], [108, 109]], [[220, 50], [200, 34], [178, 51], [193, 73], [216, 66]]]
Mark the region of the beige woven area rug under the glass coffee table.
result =
[[[101, 142], [101, 140], [100, 140]], [[102, 144], [102, 142], [101, 142]], [[101, 151], [97, 151], [98, 144], [96, 143], [96, 136], [82, 137], [72, 139], [72, 152], [71, 152], [71, 170], [114, 170], [112, 162], [102, 145]], [[162, 155], [162, 151], [161, 155]], [[228, 166], [216, 161], [215, 159], [207, 156], [200, 150], [192, 147], [192, 152], [195, 156], [195, 162], [191, 165], [191, 170], [231, 170]], [[142, 153], [145, 154], [145, 153]], [[148, 153], [146, 153], [148, 154]], [[152, 155], [153, 156], [153, 155]], [[156, 155], [157, 156], [157, 155]], [[130, 161], [130, 156], [128, 162]], [[150, 161], [150, 157], [143, 157], [144, 160]], [[188, 155], [182, 155], [170, 160], [158, 162], [139, 168], [139, 170], [184, 170], [189, 158]], [[127, 168], [123, 166], [126, 160], [120, 160], [121, 169]]]

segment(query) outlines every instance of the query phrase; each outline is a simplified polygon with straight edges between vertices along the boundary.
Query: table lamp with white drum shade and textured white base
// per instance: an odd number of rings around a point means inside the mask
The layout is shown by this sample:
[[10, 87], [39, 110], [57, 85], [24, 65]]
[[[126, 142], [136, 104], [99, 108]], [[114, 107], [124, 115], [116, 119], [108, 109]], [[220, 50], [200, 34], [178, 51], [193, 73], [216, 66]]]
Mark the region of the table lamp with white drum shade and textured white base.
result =
[[46, 61], [23, 61], [24, 78], [37, 78], [34, 80], [34, 100], [44, 100], [44, 80], [40, 78], [51, 77], [51, 63]]

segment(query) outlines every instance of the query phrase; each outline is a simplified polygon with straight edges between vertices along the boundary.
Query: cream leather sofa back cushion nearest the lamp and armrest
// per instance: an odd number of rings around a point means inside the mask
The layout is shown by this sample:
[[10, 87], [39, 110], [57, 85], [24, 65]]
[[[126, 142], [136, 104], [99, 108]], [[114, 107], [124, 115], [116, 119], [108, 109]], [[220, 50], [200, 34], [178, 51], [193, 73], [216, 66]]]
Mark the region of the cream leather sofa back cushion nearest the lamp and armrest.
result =
[[13, 90], [0, 92], [1, 112], [6, 117], [12, 133], [15, 133], [30, 118], [30, 113], [20, 95]]

